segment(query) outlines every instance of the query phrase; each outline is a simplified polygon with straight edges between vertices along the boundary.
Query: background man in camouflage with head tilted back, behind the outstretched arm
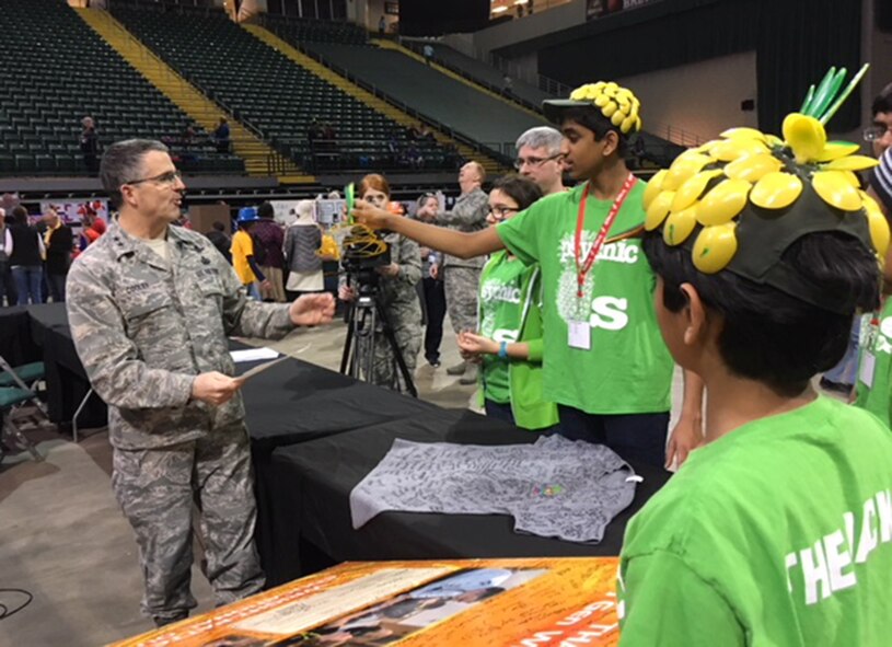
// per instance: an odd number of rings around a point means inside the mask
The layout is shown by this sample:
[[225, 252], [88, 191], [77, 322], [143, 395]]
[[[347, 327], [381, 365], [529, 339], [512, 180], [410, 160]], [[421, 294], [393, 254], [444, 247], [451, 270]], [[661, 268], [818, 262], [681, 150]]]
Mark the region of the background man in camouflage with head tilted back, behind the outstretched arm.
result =
[[[445, 226], [459, 231], [486, 229], [486, 215], [489, 199], [480, 188], [486, 180], [486, 171], [478, 162], [468, 162], [459, 172], [459, 186], [462, 195], [455, 200], [451, 211], [432, 217], [419, 215], [422, 220]], [[447, 312], [455, 334], [477, 330], [477, 290], [480, 270], [486, 258], [459, 258], [443, 255], [443, 288], [447, 297]], [[477, 383], [477, 366], [462, 362], [447, 369], [450, 376], [462, 376], [462, 384]]]

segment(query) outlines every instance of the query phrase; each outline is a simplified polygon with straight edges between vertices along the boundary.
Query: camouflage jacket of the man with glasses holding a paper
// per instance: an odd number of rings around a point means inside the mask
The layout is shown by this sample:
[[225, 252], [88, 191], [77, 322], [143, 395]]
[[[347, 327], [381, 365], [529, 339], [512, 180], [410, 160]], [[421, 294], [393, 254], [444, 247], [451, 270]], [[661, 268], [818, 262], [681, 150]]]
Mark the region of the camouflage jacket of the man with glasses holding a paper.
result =
[[68, 319], [78, 355], [108, 404], [114, 447], [148, 449], [241, 425], [241, 395], [216, 407], [192, 400], [195, 376], [234, 374], [227, 336], [280, 337], [288, 305], [246, 298], [205, 236], [169, 228], [165, 261], [117, 222], [68, 275]]

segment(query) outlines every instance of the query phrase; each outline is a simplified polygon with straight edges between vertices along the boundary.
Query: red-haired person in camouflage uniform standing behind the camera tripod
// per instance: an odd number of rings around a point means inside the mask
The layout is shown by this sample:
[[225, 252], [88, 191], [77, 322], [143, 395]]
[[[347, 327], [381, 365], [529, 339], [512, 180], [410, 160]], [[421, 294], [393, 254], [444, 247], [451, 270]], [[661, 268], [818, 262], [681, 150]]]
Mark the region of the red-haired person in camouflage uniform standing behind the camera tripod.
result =
[[[386, 208], [391, 198], [387, 181], [378, 174], [367, 175], [357, 187], [357, 195], [379, 207]], [[396, 346], [406, 362], [409, 376], [415, 374], [418, 353], [421, 349], [421, 301], [416, 286], [421, 280], [421, 252], [418, 243], [389, 234], [384, 242], [391, 249], [391, 263], [377, 268], [381, 275], [378, 282], [378, 302], [391, 324]], [[352, 301], [356, 290], [341, 285], [340, 299]], [[372, 384], [407, 391], [393, 348], [379, 325], [374, 334], [372, 374], [366, 379]]]

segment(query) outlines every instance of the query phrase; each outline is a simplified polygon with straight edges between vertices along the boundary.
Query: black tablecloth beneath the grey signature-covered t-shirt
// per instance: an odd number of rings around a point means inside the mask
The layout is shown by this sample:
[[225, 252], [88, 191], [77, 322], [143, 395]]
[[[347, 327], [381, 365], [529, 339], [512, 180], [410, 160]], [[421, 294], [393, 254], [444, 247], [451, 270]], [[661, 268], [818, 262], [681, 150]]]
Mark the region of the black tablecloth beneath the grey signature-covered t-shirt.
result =
[[[533, 442], [521, 431], [465, 412], [395, 420], [280, 448], [262, 478], [275, 492], [260, 517], [260, 545], [269, 584], [281, 584], [333, 562], [451, 557], [534, 557], [618, 555], [628, 519], [671, 475], [633, 464], [644, 477], [633, 505], [607, 527], [598, 545], [577, 544], [513, 532], [508, 516], [384, 512], [359, 530], [350, 521], [349, 495], [384, 458], [394, 438], [473, 444]], [[312, 564], [303, 558], [308, 548]], [[318, 561], [322, 559], [320, 563]]]

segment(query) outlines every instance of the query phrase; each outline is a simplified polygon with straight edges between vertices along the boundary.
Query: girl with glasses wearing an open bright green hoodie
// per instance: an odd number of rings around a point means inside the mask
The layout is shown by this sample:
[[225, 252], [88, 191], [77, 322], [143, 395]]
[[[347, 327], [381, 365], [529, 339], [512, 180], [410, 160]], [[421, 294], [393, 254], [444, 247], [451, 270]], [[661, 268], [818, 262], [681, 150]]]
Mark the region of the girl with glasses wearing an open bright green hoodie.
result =
[[[524, 177], [497, 180], [487, 221], [495, 227], [541, 197], [542, 189]], [[462, 356], [483, 366], [486, 415], [540, 431], [557, 424], [557, 406], [542, 396], [541, 292], [538, 265], [526, 266], [505, 250], [496, 252], [480, 274], [479, 332], [459, 335]]]

